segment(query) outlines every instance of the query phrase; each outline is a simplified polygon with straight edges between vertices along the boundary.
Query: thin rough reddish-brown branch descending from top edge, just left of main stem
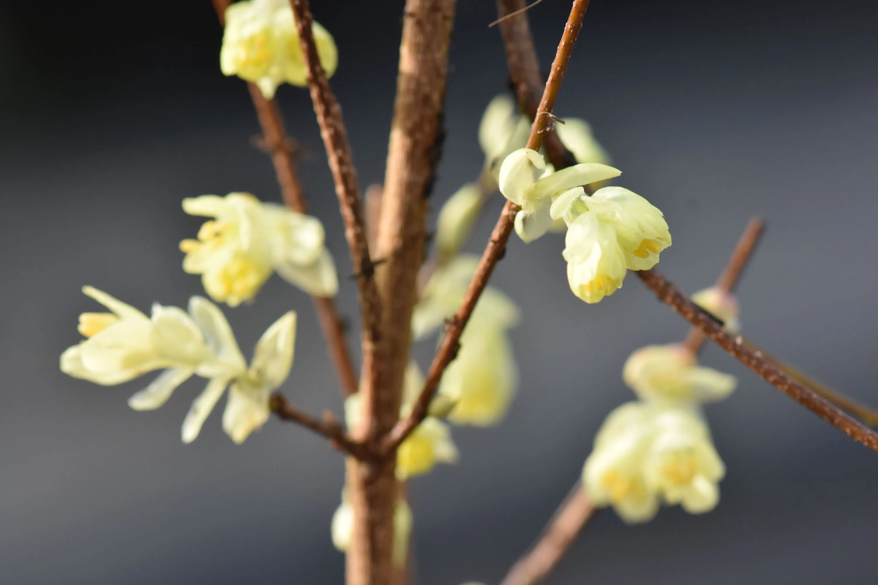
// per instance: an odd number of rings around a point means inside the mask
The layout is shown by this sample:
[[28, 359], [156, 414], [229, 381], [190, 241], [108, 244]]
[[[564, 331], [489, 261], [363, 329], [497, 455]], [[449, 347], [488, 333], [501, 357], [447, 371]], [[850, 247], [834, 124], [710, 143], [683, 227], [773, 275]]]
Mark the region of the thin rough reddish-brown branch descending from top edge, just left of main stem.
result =
[[344, 235], [348, 239], [350, 258], [357, 275], [360, 310], [363, 314], [363, 378], [369, 380], [374, 375], [375, 352], [380, 338], [381, 302], [378, 287], [375, 285], [375, 268], [366, 240], [363, 203], [356, 183], [356, 171], [342, 120], [342, 109], [329, 88], [327, 76], [320, 66], [317, 46], [314, 45], [311, 9], [307, 0], [291, 0], [290, 4], [308, 69], [308, 88], [311, 91], [314, 113], [320, 125], [323, 145], [326, 146], [329, 169], [335, 182], [335, 194], [342, 209]]

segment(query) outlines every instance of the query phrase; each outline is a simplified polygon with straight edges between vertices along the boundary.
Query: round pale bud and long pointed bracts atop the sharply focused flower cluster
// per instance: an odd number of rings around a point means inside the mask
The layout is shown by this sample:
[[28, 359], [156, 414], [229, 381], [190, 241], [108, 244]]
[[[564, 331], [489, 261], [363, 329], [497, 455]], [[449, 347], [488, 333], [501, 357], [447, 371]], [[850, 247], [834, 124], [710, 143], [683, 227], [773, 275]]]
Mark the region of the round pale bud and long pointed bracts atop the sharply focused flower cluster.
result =
[[549, 230], [551, 205], [558, 196], [622, 174], [618, 169], [597, 163], [573, 165], [549, 175], [544, 174], [545, 169], [543, 156], [529, 148], [509, 154], [500, 166], [500, 193], [522, 208], [515, 215], [515, 232], [525, 242]]

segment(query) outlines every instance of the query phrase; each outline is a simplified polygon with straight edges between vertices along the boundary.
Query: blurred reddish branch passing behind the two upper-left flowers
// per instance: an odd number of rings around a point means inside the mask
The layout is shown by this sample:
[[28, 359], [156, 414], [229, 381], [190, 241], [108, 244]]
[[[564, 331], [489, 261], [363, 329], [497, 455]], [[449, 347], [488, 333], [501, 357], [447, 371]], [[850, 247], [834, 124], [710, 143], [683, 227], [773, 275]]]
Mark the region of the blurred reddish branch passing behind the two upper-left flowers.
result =
[[[225, 24], [226, 9], [231, 4], [229, 0], [213, 0], [213, 7], [217, 11], [220, 24]], [[265, 99], [262, 92], [254, 83], [248, 83], [250, 97], [259, 125], [263, 129], [264, 146], [271, 155], [274, 164], [277, 183], [280, 185], [281, 196], [292, 210], [299, 213], [307, 213], [307, 203], [302, 184], [299, 182], [299, 174], [296, 172], [296, 162], [293, 160], [291, 139], [284, 128], [284, 118], [281, 117], [274, 100]], [[320, 320], [320, 328], [327, 339], [329, 354], [335, 364], [335, 373], [342, 384], [342, 395], [350, 396], [356, 392], [356, 371], [354, 362], [350, 359], [350, 352], [345, 340], [345, 327], [342, 317], [335, 309], [335, 302], [331, 298], [312, 296], [314, 309]]]

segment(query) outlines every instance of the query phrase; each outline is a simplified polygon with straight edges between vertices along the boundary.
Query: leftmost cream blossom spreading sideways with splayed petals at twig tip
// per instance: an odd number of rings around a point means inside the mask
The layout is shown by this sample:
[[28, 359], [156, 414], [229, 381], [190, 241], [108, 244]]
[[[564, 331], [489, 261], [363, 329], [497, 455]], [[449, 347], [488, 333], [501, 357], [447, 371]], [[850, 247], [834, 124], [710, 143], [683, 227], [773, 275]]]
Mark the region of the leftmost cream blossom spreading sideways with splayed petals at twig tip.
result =
[[129, 398], [134, 410], [157, 409], [192, 375], [206, 378], [207, 388], [184, 420], [184, 443], [198, 437], [229, 387], [222, 425], [235, 443], [243, 442], [268, 420], [270, 394], [290, 373], [296, 313], [288, 312], [268, 328], [248, 367], [226, 317], [205, 298], [193, 296], [188, 313], [156, 303], [152, 316], [147, 317], [100, 290], [84, 287], [83, 293], [111, 312], [79, 317], [79, 332], [86, 339], [61, 354], [62, 372], [112, 386], [164, 370]]

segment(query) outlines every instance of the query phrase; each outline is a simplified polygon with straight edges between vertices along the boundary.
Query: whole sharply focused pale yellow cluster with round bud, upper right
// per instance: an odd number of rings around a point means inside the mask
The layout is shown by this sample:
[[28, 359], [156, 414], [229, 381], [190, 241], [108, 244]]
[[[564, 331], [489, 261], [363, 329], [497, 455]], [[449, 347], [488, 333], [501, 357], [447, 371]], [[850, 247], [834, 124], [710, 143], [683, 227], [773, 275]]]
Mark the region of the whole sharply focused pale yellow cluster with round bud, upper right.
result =
[[542, 155], [522, 148], [500, 168], [500, 192], [521, 206], [515, 232], [525, 242], [541, 237], [553, 219], [567, 225], [564, 258], [573, 294], [597, 303], [622, 287], [627, 270], [645, 270], [671, 245], [661, 211], [629, 189], [604, 187], [587, 196], [583, 185], [621, 172], [597, 163], [547, 174]]

